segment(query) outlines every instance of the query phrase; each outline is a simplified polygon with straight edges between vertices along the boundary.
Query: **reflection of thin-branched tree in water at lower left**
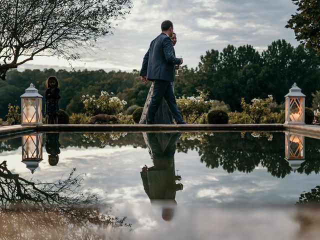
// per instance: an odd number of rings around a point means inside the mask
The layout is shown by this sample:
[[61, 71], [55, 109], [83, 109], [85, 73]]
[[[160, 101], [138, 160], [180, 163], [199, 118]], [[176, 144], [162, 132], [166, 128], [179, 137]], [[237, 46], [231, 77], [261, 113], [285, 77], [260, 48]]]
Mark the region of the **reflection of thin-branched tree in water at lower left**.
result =
[[128, 227], [125, 217], [102, 211], [96, 194], [85, 193], [82, 178], [31, 182], [0, 164], [1, 239], [105, 239], [106, 229]]

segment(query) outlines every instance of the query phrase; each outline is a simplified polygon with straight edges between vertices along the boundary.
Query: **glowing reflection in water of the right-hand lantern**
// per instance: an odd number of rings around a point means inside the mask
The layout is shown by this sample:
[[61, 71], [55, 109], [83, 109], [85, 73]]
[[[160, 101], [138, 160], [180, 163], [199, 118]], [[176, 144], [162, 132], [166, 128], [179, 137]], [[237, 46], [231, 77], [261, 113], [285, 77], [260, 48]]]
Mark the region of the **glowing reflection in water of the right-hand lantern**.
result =
[[304, 136], [285, 133], [285, 159], [296, 170], [304, 161]]

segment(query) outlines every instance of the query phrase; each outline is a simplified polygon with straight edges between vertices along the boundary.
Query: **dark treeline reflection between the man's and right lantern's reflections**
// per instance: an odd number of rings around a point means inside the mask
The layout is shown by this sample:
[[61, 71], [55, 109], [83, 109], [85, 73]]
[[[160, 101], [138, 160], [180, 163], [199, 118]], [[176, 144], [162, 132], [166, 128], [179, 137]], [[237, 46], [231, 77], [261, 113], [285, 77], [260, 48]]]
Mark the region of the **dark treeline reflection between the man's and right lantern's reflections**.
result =
[[[194, 141], [183, 141], [178, 149], [188, 148]], [[200, 155], [200, 161], [209, 168], [219, 165], [227, 172], [235, 170], [251, 172], [261, 164], [273, 176], [284, 177], [291, 171], [288, 162], [284, 160], [283, 133], [238, 133], [217, 132], [214, 136], [203, 135], [196, 142], [195, 148]]]

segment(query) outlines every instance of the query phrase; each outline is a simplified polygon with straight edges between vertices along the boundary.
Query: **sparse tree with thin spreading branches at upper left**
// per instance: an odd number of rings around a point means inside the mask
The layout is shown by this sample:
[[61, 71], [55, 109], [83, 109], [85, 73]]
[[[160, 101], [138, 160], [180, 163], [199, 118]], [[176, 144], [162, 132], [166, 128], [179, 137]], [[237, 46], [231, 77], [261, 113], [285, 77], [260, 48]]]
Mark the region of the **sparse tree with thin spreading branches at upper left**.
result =
[[76, 50], [111, 34], [112, 20], [130, 8], [130, 0], [3, 0], [0, 77], [37, 55], [78, 58]]

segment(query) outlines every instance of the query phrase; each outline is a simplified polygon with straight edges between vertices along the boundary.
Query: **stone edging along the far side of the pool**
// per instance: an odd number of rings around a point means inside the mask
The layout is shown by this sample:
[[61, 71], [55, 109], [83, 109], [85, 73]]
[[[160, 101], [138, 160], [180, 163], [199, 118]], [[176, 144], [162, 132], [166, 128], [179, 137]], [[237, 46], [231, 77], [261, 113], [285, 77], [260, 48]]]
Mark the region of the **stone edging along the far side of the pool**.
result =
[[23, 135], [30, 132], [178, 132], [178, 131], [289, 131], [320, 139], [320, 125], [289, 124], [45, 124], [41, 126], [0, 126], [0, 137]]

